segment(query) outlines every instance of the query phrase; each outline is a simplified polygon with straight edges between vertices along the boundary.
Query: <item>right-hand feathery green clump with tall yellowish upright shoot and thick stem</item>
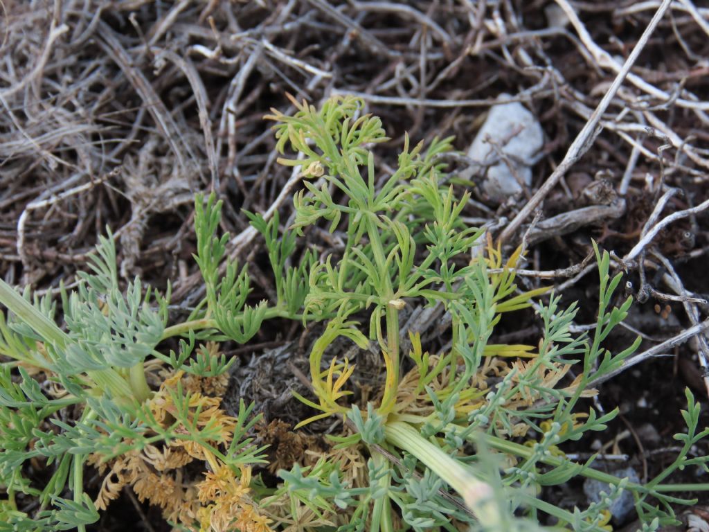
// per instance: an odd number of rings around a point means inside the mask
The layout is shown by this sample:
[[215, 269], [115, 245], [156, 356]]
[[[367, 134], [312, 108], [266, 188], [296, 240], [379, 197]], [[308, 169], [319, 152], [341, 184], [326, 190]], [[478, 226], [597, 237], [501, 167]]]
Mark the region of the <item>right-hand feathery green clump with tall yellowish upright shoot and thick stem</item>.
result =
[[[294, 104], [298, 109], [294, 116], [274, 111], [267, 117], [279, 122], [274, 128], [279, 152], [284, 153], [286, 145], [290, 145], [301, 154], [279, 162], [306, 169], [305, 189], [294, 199], [296, 218], [292, 228], [301, 232], [323, 218], [330, 223], [330, 231], [342, 226], [347, 235], [339, 256], [329, 254], [311, 266], [305, 314], [326, 319], [327, 324], [313, 343], [310, 355], [317, 402], [300, 398], [320, 414], [301, 425], [326, 416], [347, 416], [357, 433], [341, 438], [340, 445], [364, 444], [372, 458], [369, 491], [361, 492], [359, 497], [354, 496], [359, 493], [356, 488], [349, 488], [348, 492], [347, 487], [338, 484], [336, 469], [328, 467], [313, 467], [307, 474], [298, 468], [281, 472], [286, 487], [311, 494], [301, 497], [301, 501], [316, 512], [322, 512], [323, 507], [317, 507], [313, 496], [321, 493], [320, 500], [329, 500], [329, 504], [356, 506], [352, 516], [359, 524], [348, 523], [343, 530], [393, 531], [393, 514], [401, 514], [413, 529], [454, 529], [452, 519], [461, 523], [476, 521], [476, 527], [486, 530], [524, 529], [536, 526], [540, 514], [547, 514], [556, 518], [559, 526], [601, 530], [603, 510], [621, 489], [632, 491], [638, 513], [647, 526], [672, 521], [671, 504], [691, 504], [667, 493], [697, 486], [660, 484], [686, 460], [705, 465], [705, 458], [688, 459], [688, 448], [683, 449], [678, 462], [646, 486], [593, 470], [593, 459], [576, 464], [563, 458], [560, 451], [552, 454], [568, 440], [578, 440], [588, 431], [603, 430], [605, 423], [615, 417], [617, 411], [598, 417], [591, 410], [584, 419], [578, 412], [579, 400], [588, 383], [613, 371], [640, 344], [637, 338], [615, 355], [602, 347], [631, 304], [627, 299], [619, 308], [611, 305], [621, 275], [610, 278], [608, 253], [601, 254], [596, 248], [601, 301], [592, 338], [571, 336], [569, 327], [576, 308], [572, 305], [561, 310], [559, 297], [552, 296], [539, 313], [545, 324], [539, 353], [532, 354], [525, 346], [488, 345], [503, 312], [529, 306], [530, 299], [545, 290], [517, 290], [512, 267], [519, 250], [501, 274], [488, 272], [489, 266], [502, 266], [499, 250], [489, 245], [487, 260], [476, 251], [481, 247], [483, 231], [466, 227], [460, 219], [469, 194], [457, 199], [452, 186], [441, 184], [445, 174], [437, 155], [451, 149], [450, 139], [436, 139], [424, 151], [421, 144], [411, 148], [405, 138], [398, 168], [379, 183], [374, 154], [368, 146], [387, 139], [379, 118], [360, 113], [362, 101], [330, 99], [319, 111], [305, 103]], [[318, 182], [309, 180], [313, 178]], [[418, 401], [428, 399], [430, 414], [425, 416], [408, 411], [411, 402], [406, 401], [401, 390], [399, 314], [415, 301], [427, 306], [441, 305], [451, 317], [452, 348], [435, 362], [428, 353], [421, 353], [418, 337], [412, 338], [411, 359], [418, 368], [418, 382], [413, 388], [414, 394], [425, 390], [417, 397]], [[369, 315], [368, 333], [362, 323], [367, 315], [363, 312]], [[386, 379], [376, 409], [368, 405], [367, 411], [359, 411], [356, 405], [345, 401], [350, 394], [347, 379], [353, 372], [347, 360], [340, 362], [335, 357], [323, 364], [328, 347], [342, 336], [360, 348], [374, 343], [381, 351]], [[532, 358], [526, 364], [515, 365], [495, 389], [481, 397], [476, 393], [479, 390], [474, 378], [483, 358], [501, 353]], [[582, 363], [579, 378], [571, 387], [555, 387], [565, 373], [562, 368], [575, 362]], [[432, 382], [439, 385], [434, 389]], [[514, 401], [517, 404], [512, 406]], [[520, 401], [524, 408], [520, 408]], [[698, 406], [689, 393], [688, 404], [688, 435], [679, 438], [696, 442], [707, 432], [696, 433]], [[421, 410], [420, 405], [418, 409]], [[540, 433], [540, 441], [531, 446], [510, 441], [520, 423]], [[476, 445], [477, 459], [468, 443]], [[382, 455], [381, 450], [386, 454]], [[491, 468], [490, 463], [495, 463], [499, 455], [507, 455], [508, 463], [516, 463]], [[386, 459], [389, 456], [398, 456], [398, 460]], [[408, 467], [402, 467], [407, 460]], [[423, 476], [413, 488], [410, 475], [416, 470]], [[561, 484], [577, 475], [613, 486], [603, 504], [572, 513], [535, 497], [540, 486]], [[444, 485], [441, 481], [462, 497], [467, 511], [451, 499], [440, 497]], [[315, 482], [322, 482], [323, 491]], [[333, 494], [338, 486], [338, 494]], [[425, 501], [422, 493], [428, 494]], [[430, 504], [431, 500], [435, 504]], [[659, 506], [652, 506], [650, 501], [658, 501]], [[515, 513], [531, 520], [512, 519]]]

